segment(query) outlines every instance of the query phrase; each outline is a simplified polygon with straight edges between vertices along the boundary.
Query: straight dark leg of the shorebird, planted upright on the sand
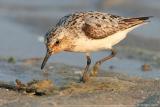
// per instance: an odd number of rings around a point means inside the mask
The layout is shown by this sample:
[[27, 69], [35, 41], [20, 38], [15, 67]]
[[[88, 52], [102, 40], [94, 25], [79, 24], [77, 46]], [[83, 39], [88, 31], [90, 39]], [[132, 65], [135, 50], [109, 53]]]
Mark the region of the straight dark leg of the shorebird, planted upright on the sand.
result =
[[91, 64], [91, 58], [90, 58], [89, 54], [86, 54], [86, 59], [87, 59], [87, 65], [86, 65], [86, 67], [84, 69], [83, 76], [82, 76], [82, 79], [81, 79], [81, 81], [83, 81], [83, 82], [88, 81], [89, 80], [89, 76], [90, 76], [90, 74], [88, 72], [89, 66]]

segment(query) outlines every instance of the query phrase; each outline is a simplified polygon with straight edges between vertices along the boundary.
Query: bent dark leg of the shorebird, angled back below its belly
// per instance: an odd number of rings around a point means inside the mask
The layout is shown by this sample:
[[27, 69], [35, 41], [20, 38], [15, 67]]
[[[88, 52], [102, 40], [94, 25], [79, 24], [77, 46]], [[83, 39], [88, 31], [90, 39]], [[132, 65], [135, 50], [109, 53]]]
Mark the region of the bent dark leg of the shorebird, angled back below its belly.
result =
[[114, 49], [111, 49], [111, 52], [112, 52], [111, 55], [109, 55], [109, 56], [107, 56], [107, 57], [105, 57], [105, 58], [103, 58], [103, 59], [101, 59], [101, 60], [99, 60], [99, 61], [97, 61], [97, 62], [95, 63], [95, 65], [93, 66], [93, 70], [92, 70], [92, 72], [91, 72], [91, 76], [97, 76], [97, 74], [98, 74], [98, 72], [99, 72], [99, 67], [100, 67], [100, 65], [101, 65], [103, 62], [105, 62], [105, 61], [113, 58], [113, 57], [117, 54], [117, 52], [116, 52]]

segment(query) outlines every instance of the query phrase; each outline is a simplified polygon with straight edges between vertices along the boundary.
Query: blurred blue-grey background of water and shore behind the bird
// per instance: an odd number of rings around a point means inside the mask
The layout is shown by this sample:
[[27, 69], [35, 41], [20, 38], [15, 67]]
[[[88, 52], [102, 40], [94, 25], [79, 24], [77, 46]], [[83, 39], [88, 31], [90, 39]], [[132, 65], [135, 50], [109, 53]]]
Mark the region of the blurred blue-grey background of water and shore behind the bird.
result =
[[[154, 16], [149, 24], [128, 34], [117, 47], [118, 56], [103, 68], [116, 66], [126, 72], [135, 71], [148, 61], [155, 66], [153, 71], [159, 71], [160, 0], [0, 0], [0, 56], [43, 57], [46, 52], [43, 36], [60, 17], [75, 11], [94, 10], [126, 17]], [[93, 53], [92, 58], [95, 61], [106, 54]], [[65, 52], [50, 61], [78, 66], [86, 63], [82, 53]], [[160, 77], [160, 73], [154, 75]]]

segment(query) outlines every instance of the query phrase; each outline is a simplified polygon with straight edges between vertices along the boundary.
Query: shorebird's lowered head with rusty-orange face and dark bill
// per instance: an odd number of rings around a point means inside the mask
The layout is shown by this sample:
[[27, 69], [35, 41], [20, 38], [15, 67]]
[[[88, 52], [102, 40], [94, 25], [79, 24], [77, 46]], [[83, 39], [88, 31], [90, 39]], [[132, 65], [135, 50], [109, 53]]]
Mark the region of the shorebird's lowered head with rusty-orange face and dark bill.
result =
[[53, 54], [68, 50], [71, 47], [71, 38], [65, 28], [58, 28], [47, 32], [45, 36], [46, 56], [42, 62], [41, 69], [44, 68], [47, 60]]

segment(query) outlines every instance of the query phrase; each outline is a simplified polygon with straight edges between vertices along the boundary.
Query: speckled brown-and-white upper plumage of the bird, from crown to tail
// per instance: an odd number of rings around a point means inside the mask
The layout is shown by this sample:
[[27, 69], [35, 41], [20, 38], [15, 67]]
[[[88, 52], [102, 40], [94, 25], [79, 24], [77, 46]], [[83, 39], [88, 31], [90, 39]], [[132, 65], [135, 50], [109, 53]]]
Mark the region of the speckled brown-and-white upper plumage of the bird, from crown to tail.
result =
[[[54, 44], [57, 39], [62, 39], [66, 36], [66, 39], [72, 39], [72, 42], [70, 42], [72, 46], [70, 47], [73, 49], [76, 45], [74, 44], [74, 42], [76, 42], [75, 39], [102, 40], [117, 32], [144, 23], [145, 18], [146, 17], [124, 18], [102, 12], [76, 12], [62, 17], [56, 26], [46, 34], [45, 40], [48, 46], [50, 46], [52, 43]], [[80, 52], [80, 50], [78, 50], [78, 52]]]

